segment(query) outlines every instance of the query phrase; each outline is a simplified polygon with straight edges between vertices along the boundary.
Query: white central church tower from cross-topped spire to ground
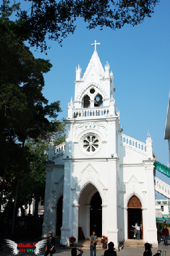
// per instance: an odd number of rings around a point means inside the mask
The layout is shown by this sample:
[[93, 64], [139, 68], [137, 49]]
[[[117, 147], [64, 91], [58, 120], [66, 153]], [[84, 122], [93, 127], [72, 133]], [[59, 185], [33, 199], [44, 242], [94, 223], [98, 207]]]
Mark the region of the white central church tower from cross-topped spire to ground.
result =
[[[83, 77], [80, 65], [76, 68], [75, 96], [68, 104], [61, 244], [67, 244], [70, 236], [78, 240], [80, 229], [86, 238], [90, 236], [90, 223], [94, 219], [90, 216], [90, 201], [98, 193], [102, 201], [98, 232], [109, 232], [110, 241], [118, 247], [118, 141], [121, 127], [119, 112], [115, 110], [114, 76], [109, 63], [106, 62], [104, 68], [101, 65], [97, 53], [99, 44], [97, 41], [92, 44], [95, 51]], [[112, 204], [107, 204], [108, 201]]]

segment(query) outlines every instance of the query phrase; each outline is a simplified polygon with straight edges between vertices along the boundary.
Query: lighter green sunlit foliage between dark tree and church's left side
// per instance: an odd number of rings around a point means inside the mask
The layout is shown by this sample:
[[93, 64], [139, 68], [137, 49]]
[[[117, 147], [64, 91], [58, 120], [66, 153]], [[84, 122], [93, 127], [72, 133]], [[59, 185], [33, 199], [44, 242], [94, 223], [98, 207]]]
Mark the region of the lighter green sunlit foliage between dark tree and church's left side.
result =
[[[45, 185], [46, 185], [46, 160], [47, 151], [49, 148], [49, 140], [51, 137], [54, 139], [55, 146], [65, 141], [65, 124], [63, 121], [52, 121], [53, 132], [47, 133], [44, 137], [38, 137], [36, 140], [29, 138], [26, 146], [29, 151], [30, 163], [30, 188], [32, 188], [32, 195], [36, 200], [44, 199]], [[54, 128], [55, 127], [55, 128]], [[24, 185], [24, 184], [23, 184]], [[21, 185], [21, 189], [25, 190]], [[20, 190], [19, 190], [20, 191]]]

